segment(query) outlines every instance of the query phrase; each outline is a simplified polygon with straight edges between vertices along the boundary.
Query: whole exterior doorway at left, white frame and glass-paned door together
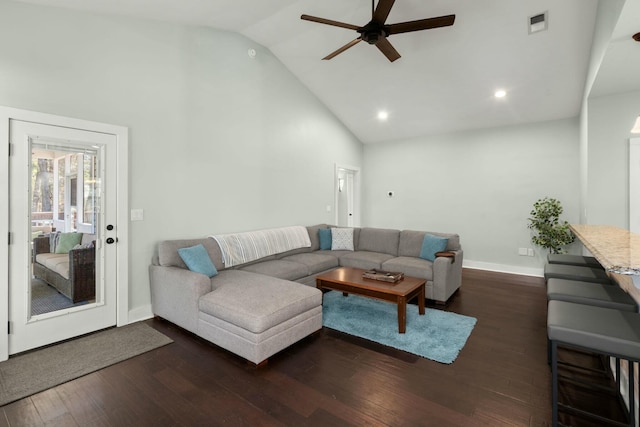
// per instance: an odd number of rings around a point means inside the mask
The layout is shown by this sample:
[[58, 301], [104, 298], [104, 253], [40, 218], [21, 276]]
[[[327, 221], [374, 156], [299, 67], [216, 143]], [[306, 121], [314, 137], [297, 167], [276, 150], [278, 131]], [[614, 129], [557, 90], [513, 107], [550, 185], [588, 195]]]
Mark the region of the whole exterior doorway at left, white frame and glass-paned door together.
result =
[[127, 133], [0, 107], [0, 361], [127, 323]]

